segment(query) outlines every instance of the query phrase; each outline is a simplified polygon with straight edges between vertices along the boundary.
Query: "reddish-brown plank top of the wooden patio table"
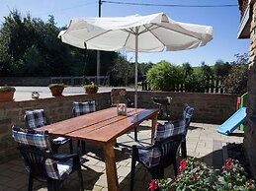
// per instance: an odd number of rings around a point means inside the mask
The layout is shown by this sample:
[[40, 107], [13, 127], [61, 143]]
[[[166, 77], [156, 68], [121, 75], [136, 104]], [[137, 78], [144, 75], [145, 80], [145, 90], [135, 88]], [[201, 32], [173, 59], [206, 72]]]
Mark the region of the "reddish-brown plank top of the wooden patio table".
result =
[[156, 116], [158, 109], [128, 108], [127, 116], [111, 107], [43, 126], [49, 134], [104, 144], [113, 141], [143, 120]]

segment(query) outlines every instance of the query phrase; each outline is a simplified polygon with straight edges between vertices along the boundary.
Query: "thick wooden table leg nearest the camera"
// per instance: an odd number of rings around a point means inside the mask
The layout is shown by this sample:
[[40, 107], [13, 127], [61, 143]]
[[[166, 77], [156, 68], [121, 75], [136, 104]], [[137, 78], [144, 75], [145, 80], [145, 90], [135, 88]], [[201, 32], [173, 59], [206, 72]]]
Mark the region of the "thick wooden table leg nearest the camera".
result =
[[119, 190], [119, 180], [116, 166], [116, 156], [114, 151], [115, 142], [106, 143], [103, 147], [104, 157], [106, 163], [108, 190], [118, 191]]

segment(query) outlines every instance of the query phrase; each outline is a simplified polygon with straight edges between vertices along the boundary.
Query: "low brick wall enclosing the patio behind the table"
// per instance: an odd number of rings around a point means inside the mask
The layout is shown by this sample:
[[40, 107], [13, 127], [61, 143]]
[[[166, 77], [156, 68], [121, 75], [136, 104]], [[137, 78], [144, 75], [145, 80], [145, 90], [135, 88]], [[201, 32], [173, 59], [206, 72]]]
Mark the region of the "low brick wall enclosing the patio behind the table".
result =
[[[171, 96], [169, 107], [172, 117], [179, 118], [186, 102], [195, 107], [193, 122], [221, 124], [235, 112], [235, 95], [214, 95], [197, 93], [161, 93], [139, 92], [138, 107], [153, 108], [152, 96]], [[133, 99], [133, 92], [128, 92]], [[51, 123], [72, 117], [72, 101], [96, 100], [96, 109], [101, 110], [111, 105], [110, 93], [79, 96], [60, 96], [38, 100], [0, 102], [0, 160], [9, 159], [17, 154], [16, 145], [11, 137], [11, 126], [24, 126], [26, 109], [43, 108]]]

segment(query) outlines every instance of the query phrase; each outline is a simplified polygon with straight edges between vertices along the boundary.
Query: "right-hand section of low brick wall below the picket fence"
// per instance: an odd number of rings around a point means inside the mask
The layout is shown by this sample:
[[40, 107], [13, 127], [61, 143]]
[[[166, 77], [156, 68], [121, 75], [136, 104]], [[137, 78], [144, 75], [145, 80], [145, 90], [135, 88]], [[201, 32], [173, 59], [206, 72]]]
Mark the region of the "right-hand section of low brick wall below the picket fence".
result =
[[195, 107], [194, 122], [221, 124], [236, 109], [236, 95], [204, 94], [204, 93], [161, 93], [141, 92], [138, 94], [138, 106], [153, 107], [152, 96], [171, 96], [169, 107], [172, 118], [181, 117], [185, 103]]

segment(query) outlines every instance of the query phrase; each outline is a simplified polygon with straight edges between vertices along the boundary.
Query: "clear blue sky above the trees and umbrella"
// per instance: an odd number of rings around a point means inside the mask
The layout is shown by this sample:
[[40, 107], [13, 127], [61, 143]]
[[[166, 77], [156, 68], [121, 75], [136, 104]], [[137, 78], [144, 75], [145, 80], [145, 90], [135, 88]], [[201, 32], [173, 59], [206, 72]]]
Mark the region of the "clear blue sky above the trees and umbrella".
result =
[[[113, 0], [120, 2], [178, 4], [178, 5], [237, 5], [237, 0]], [[53, 15], [58, 27], [67, 26], [70, 19], [77, 17], [98, 17], [98, 0], [8, 0], [0, 1], [0, 22], [8, 16], [10, 10], [17, 9], [23, 16], [30, 13], [32, 17], [47, 21], [48, 15]], [[181, 65], [189, 62], [192, 66], [200, 66], [203, 61], [213, 65], [216, 60], [234, 61], [234, 54], [248, 52], [249, 39], [237, 39], [240, 22], [238, 6], [221, 8], [188, 8], [161, 6], [134, 6], [102, 4], [102, 17], [117, 17], [128, 15], [148, 15], [157, 12], [166, 13], [171, 19], [179, 22], [213, 26], [213, 40], [206, 46], [177, 52], [139, 53], [139, 62], [168, 62]], [[134, 55], [128, 53], [128, 60]]]

